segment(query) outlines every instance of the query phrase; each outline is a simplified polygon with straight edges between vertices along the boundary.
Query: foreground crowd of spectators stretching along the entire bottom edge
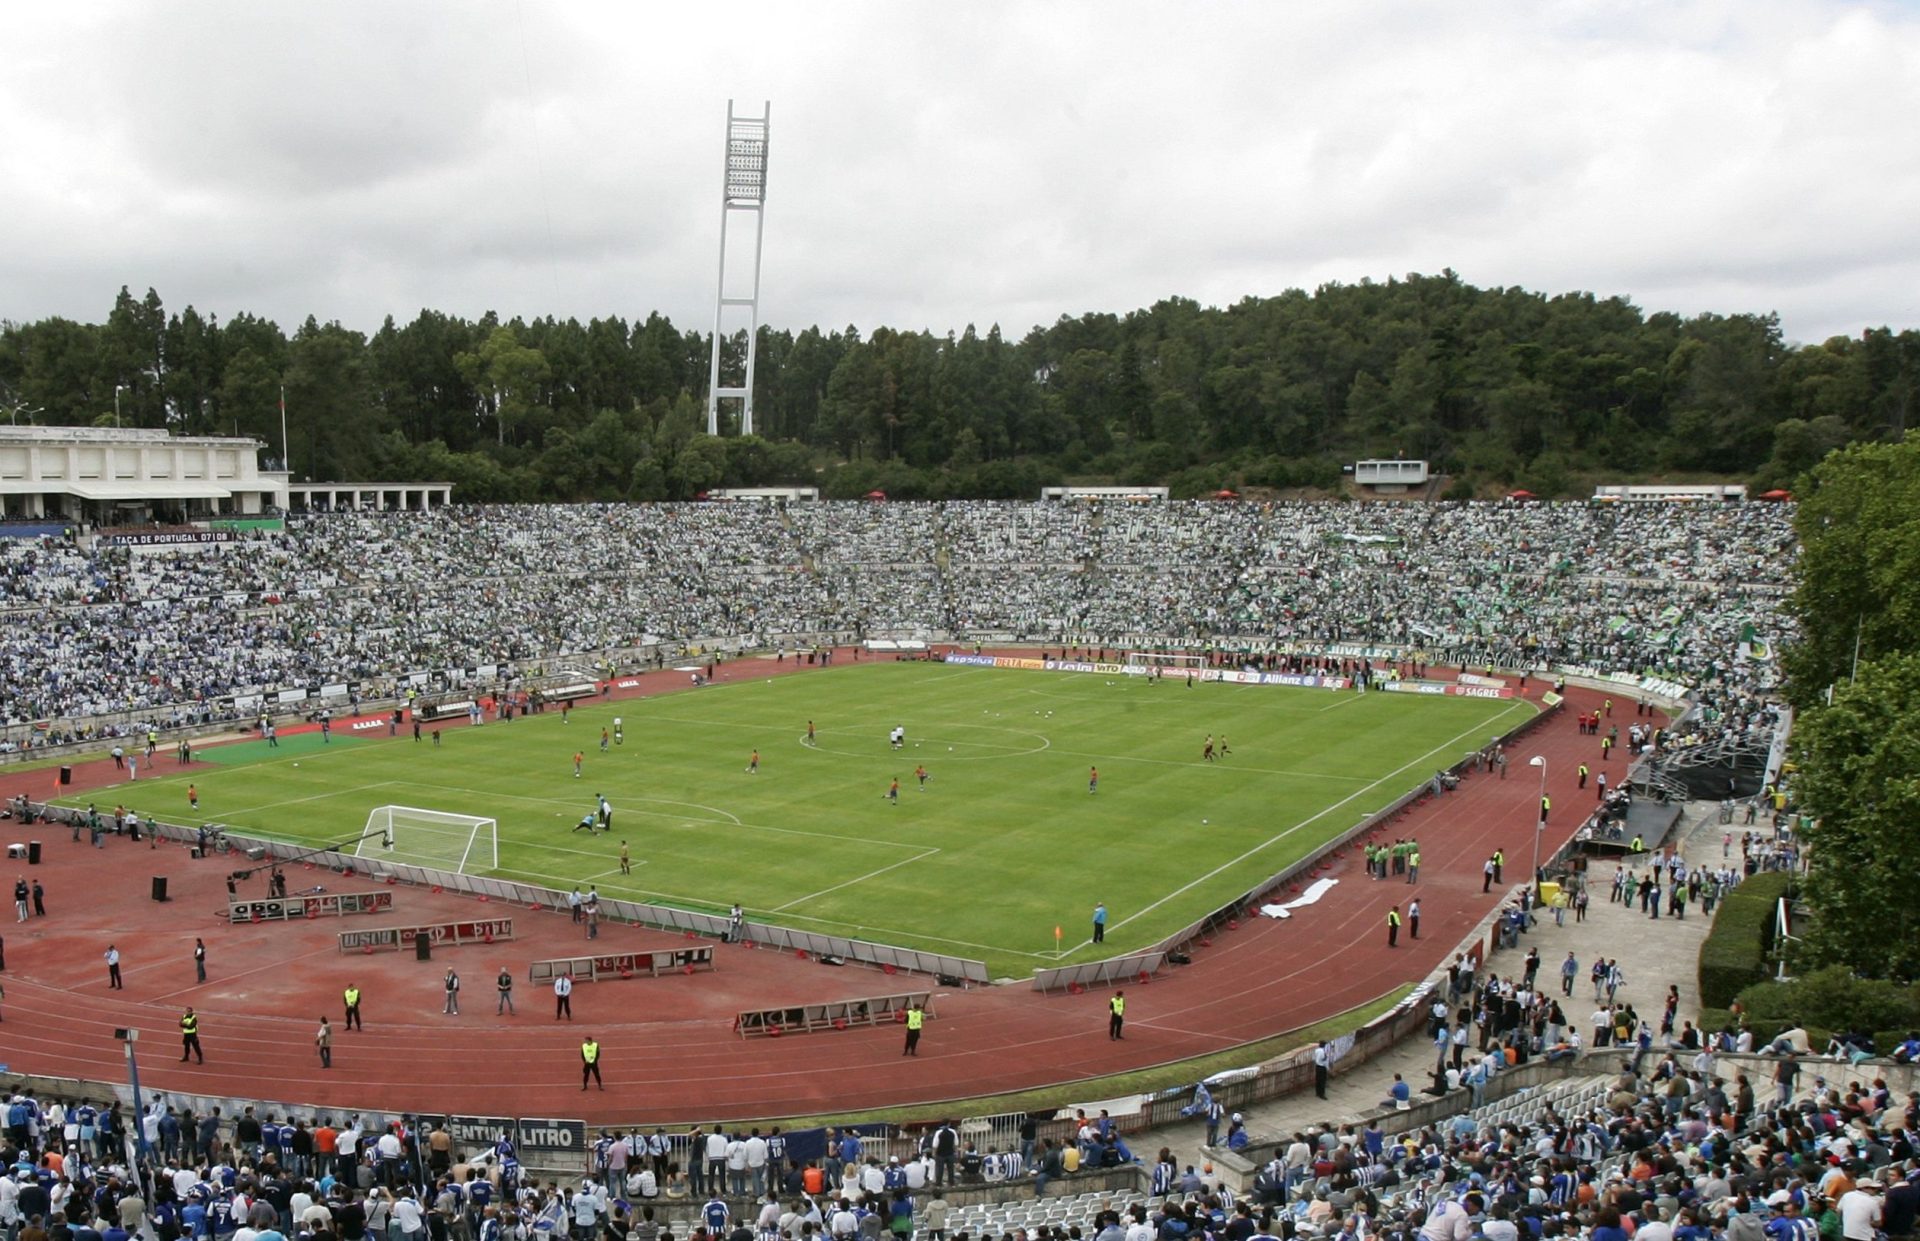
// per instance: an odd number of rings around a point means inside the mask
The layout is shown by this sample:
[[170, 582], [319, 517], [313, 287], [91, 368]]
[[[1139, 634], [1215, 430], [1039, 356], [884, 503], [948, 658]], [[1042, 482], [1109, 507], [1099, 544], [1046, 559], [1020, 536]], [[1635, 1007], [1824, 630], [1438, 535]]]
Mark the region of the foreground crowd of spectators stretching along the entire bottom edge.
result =
[[[1473, 1060], [1480, 1068], [1482, 1053]], [[165, 1105], [132, 1120], [119, 1105], [15, 1093], [0, 1233], [970, 1241], [979, 1228], [989, 1241], [1903, 1241], [1920, 1210], [1920, 1095], [1897, 1099], [1880, 1078], [1841, 1085], [1824, 1072], [1834, 1070], [1786, 1053], [1755, 1082], [1718, 1066], [1713, 1047], [1674, 1039], [1647, 1055], [1642, 1041], [1611, 1078], [1500, 1103], [1476, 1089], [1476, 1107], [1425, 1128], [1388, 1133], [1375, 1116], [1296, 1132], [1258, 1162], [1244, 1193], [1183, 1170], [1164, 1147], [1140, 1160], [1148, 1193], [1071, 1199], [1035, 1216], [956, 1208], [948, 1195], [1016, 1180], [1044, 1195], [1075, 1166], [1123, 1162], [1104, 1158], [1114, 1147], [1125, 1155], [1104, 1116], [1066, 1143], [1027, 1137], [1004, 1156], [964, 1149], [952, 1126], [904, 1158], [868, 1155], [847, 1132], [804, 1160], [789, 1156], [778, 1130], [607, 1132], [589, 1174], [563, 1185], [526, 1174], [505, 1135], [461, 1162], [444, 1128], [407, 1120], [334, 1126], [324, 1114], [223, 1118]], [[1244, 1133], [1240, 1116], [1233, 1132]], [[140, 1158], [129, 1162], [134, 1145]], [[699, 1187], [682, 1160], [701, 1170]]]

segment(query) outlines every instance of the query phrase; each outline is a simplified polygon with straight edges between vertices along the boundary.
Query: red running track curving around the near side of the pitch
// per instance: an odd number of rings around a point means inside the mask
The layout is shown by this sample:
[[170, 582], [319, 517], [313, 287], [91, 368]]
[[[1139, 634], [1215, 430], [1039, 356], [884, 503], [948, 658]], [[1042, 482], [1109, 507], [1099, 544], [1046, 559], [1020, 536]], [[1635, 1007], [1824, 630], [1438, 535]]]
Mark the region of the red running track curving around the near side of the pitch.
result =
[[[735, 676], [764, 676], [772, 665], [741, 663]], [[785, 670], [810, 670], [804, 665]], [[678, 688], [674, 672], [651, 674], [639, 692]], [[1536, 686], [1538, 690], [1538, 686]], [[1620, 703], [1626, 699], [1622, 697]], [[1494, 907], [1480, 866], [1498, 847], [1524, 882], [1532, 849], [1538, 776], [1548, 761], [1555, 803], [1544, 847], [1563, 843], [1590, 805], [1574, 768], [1588, 761], [1611, 778], [1624, 757], [1601, 766], [1594, 738], [1574, 715], [1597, 694], [1574, 690], [1569, 709], [1524, 740], [1507, 780], [1475, 774], [1446, 797], [1427, 799], [1384, 826], [1382, 836], [1417, 836], [1419, 886], [1371, 882], [1354, 851], [1332, 859], [1338, 878], [1317, 905], [1286, 922], [1254, 918], [1146, 986], [1129, 986], [1127, 1037], [1106, 1037], [1108, 993], [1043, 997], [1025, 986], [939, 991], [918, 1058], [902, 1058], [897, 1030], [845, 1030], [743, 1041], [732, 1032], [739, 1009], [854, 999], [908, 989], [904, 978], [751, 949], [714, 945], [716, 968], [695, 976], [582, 984], [574, 1020], [555, 1022], [553, 997], [532, 989], [526, 962], [589, 951], [684, 945], [664, 932], [605, 926], [588, 945], [564, 912], [511, 911], [511, 945], [442, 949], [432, 962], [394, 953], [336, 951], [340, 930], [499, 916], [499, 905], [397, 888], [392, 918], [321, 918], [296, 924], [228, 926], [225, 874], [230, 859], [192, 861], [180, 845], [150, 847], [108, 838], [106, 849], [73, 843], [63, 828], [35, 826], [44, 864], [15, 874], [46, 886], [48, 916], [0, 922], [6, 945], [6, 1005], [0, 1060], [13, 1072], [119, 1080], [117, 1026], [142, 1032], [142, 1082], [152, 1087], [328, 1108], [428, 1110], [495, 1116], [572, 1114], [601, 1122], [697, 1122], [780, 1118], [893, 1105], [933, 1105], [1000, 1091], [1073, 1083], [1181, 1060], [1311, 1024], [1367, 1003], [1446, 964], [1452, 947]], [[1624, 730], [1632, 715], [1617, 713]], [[75, 770], [77, 788], [111, 782], [111, 761]], [[46, 795], [50, 772], [21, 772], [0, 793]], [[106, 799], [106, 797], [104, 797]], [[10, 840], [25, 834], [10, 824]], [[148, 899], [150, 878], [169, 878], [173, 901]], [[13, 876], [6, 876], [12, 880]], [[290, 888], [365, 888], [328, 870], [290, 870]], [[257, 880], [255, 880], [257, 886]], [[1419, 895], [1419, 941], [1386, 947], [1392, 903]], [[205, 937], [209, 982], [194, 984], [194, 937]], [[108, 943], [123, 955], [125, 989], [108, 989]], [[463, 1012], [442, 1014], [442, 976], [461, 974]], [[516, 980], [518, 1014], [495, 1016], [493, 976]], [[365, 1032], [340, 1030], [340, 991], [365, 991]], [[924, 986], [920, 980], [918, 986]], [[205, 1066], [180, 1064], [179, 1016], [202, 1018]], [[334, 1066], [313, 1051], [319, 1016], [334, 1020]], [[580, 1093], [580, 1039], [603, 1045], [607, 1089]], [[572, 1101], [572, 1103], [568, 1103]]]

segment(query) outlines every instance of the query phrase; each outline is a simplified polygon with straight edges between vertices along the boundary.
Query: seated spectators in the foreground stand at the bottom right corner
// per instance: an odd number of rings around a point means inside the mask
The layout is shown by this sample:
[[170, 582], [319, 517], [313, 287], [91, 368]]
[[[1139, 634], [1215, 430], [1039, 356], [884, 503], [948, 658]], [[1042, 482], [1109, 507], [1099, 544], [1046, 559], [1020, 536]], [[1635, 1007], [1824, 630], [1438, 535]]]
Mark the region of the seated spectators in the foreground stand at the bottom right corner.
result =
[[[1363, 1241], [1876, 1241], [1907, 1237], [1920, 1097], [1722, 1078], [1711, 1053], [1665, 1055], [1561, 1107], [1498, 1107], [1386, 1135], [1379, 1124], [1296, 1133], [1254, 1199], [1281, 1226], [1252, 1235]], [[1227, 1206], [1225, 1210], [1233, 1210]], [[1258, 1206], [1256, 1206], [1258, 1210]], [[1212, 1208], [1210, 1208], [1212, 1214]], [[1231, 1214], [1227, 1216], [1231, 1218]], [[1165, 1233], [1162, 1233], [1165, 1235]]]

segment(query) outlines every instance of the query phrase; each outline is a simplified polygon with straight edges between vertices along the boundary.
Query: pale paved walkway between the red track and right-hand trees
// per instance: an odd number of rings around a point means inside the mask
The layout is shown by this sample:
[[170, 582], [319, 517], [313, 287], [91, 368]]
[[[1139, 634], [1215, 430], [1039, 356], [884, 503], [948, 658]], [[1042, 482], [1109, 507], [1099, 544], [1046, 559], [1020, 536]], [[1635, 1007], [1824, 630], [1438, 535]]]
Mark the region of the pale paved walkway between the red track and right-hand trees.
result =
[[[1674, 830], [1690, 866], [1718, 864], [1722, 834], [1726, 828], [1718, 822], [1716, 803], [1688, 803], [1686, 813]], [[1736, 859], [1740, 830], [1741, 828], [1738, 826], [1734, 828]], [[1642, 874], [1645, 872], [1645, 857], [1630, 861], [1634, 863], [1630, 868]], [[1653, 1022], [1655, 1030], [1659, 1030], [1659, 1016], [1668, 984], [1676, 984], [1680, 987], [1678, 1020], [1697, 1020], [1699, 943], [1707, 936], [1709, 918], [1699, 916], [1697, 905], [1684, 920], [1674, 920], [1665, 914], [1661, 918], [1649, 918], [1640, 912], [1638, 905], [1632, 911], [1624, 905], [1609, 905], [1607, 895], [1613, 886], [1613, 863], [1596, 863], [1590, 872], [1590, 882], [1594, 897], [1586, 922], [1574, 922], [1572, 912], [1569, 912], [1567, 924], [1555, 926], [1553, 918], [1546, 916], [1540, 920], [1540, 926], [1521, 939], [1519, 949], [1496, 953], [1490, 959], [1488, 968], [1501, 976], [1517, 976], [1524, 968], [1523, 962], [1526, 959], [1526, 949], [1538, 947], [1540, 986], [1557, 989], [1559, 966], [1571, 949], [1580, 962], [1580, 976], [1574, 984], [1572, 1001], [1563, 1001], [1561, 1009], [1567, 1012], [1569, 1022], [1580, 1030], [1580, 1039], [1588, 1047], [1592, 1047], [1590, 1016], [1594, 1012], [1594, 986], [1588, 980], [1588, 968], [1594, 964], [1596, 953], [1603, 953], [1620, 962], [1620, 970], [1626, 974], [1626, 987], [1620, 989], [1620, 999], [1632, 1003], [1640, 1016]], [[1486, 974], [1480, 974], [1480, 978], [1484, 976]], [[1348, 1120], [1356, 1120], [1361, 1112], [1373, 1110], [1386, 1099], [1386, 1089], [1392, 1085], [1396, 1072], [1405, 1076], [1417, 1097], [1421, 1085], [1425, 1085], [1432, 1074], [1432, 1043], [1415, 1034], [1384, 1057], [1359, 1064], [1352, 1072], [1336, 1072], [1327, 1089], [1325, 1101], [1315, 1099], [1311, 1091], [1304, 1091], [1256, 1105], [1244, 1112], [1246, 1128], [1258, 1141], [1261, 1137], [1294, 1133], [1296, 1130], [1306, 1130], [1308, 1126], [1344, 1124]], [[1221, 1128], [1221, 1133], [1225, 1133], [1225, 1126]], [[1152, 1130], [1139, 1135], [1129, 1145], [1135, 1155], [1148, 1162], [1152, 1162], [1152, 1156], [1160, 1151], [1160, 1147], [1169, 1147], [1183, 1168], [1187, 1164], [1198, 1168], [1206, 1162], [1208, 1155], [1202, 1145], [1204, 1135], [1204, 1126], [1194, 1120]]]

